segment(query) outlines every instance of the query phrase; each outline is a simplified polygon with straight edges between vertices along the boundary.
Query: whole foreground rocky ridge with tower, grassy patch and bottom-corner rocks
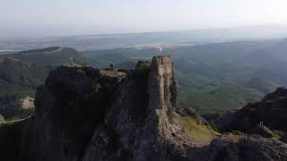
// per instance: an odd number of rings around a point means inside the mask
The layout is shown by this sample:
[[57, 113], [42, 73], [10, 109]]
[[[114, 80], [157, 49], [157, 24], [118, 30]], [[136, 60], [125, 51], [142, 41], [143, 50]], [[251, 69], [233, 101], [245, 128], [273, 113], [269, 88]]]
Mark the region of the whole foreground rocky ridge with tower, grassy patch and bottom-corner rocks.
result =
[[[121, 71], [121, 72], [119, 72]], [[280, 140], [222, 135], [178, 106], [170, 56], [135, 70], [62, 66], [37, 89], [35, 114], [0, 124], [1, 160], [283, 160]], [[216, 138], [216, 139], [214, 139]], [[211, 144], [210, 144], [211, 142]]]

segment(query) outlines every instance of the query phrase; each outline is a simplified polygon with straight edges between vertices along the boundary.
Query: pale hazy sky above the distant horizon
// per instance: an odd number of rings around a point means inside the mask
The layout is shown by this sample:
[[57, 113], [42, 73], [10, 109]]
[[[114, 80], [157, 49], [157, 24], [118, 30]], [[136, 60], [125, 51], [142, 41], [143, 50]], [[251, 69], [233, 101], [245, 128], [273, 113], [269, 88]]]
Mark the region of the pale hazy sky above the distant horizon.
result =
[[0, 37], [287, 24], [286, 0], [0, 0]]

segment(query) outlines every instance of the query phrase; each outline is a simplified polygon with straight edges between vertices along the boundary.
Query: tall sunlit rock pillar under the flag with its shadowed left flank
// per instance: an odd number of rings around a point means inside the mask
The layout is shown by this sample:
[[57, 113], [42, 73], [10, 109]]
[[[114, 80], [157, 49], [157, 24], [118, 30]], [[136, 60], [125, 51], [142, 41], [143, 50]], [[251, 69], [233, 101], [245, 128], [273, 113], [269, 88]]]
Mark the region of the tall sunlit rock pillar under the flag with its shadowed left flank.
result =
[[[109, 117], [94, 133], [85, 161], [94, 156], [98, 160], [183, 157], [182, 142], [172, 136], [179, 127], [172, 118], [177, 109], [177, 83], [171, 57], [153, 57], [148, 70], [135, 70], [133, 75], [120, 86]], [[110, 140], [117, 140], [113, 142], [116, 148], [109, 148]]]

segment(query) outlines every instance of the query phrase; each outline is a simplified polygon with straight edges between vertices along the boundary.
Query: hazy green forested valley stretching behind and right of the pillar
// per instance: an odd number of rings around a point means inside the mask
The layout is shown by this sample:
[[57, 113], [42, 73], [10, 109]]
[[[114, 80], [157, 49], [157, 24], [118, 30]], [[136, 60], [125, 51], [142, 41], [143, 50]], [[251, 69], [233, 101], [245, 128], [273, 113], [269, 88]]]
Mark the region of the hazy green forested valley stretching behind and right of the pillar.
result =
[[172, 55], [181, 106], [192, 106], [200, 114], [223, 114], [287, 85], [285, 62], [274, 53], [278, 42], [236, 41], [170, 47], [162, 53], [155, 48], [118, 48], [88, 51], [83, 55], [102, 66], [114, 63], [116, 67], [126, 68], [152, 55]]

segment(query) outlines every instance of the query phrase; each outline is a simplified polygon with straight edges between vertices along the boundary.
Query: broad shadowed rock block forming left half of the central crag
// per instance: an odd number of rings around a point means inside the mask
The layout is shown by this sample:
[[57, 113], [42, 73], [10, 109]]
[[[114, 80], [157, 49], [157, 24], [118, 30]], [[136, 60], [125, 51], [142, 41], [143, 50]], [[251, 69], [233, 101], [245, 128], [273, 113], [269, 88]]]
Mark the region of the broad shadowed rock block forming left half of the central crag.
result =
[[37, 90], [35, 156], [29, 160], [79, 160], [105, 120], [119, 78], [86, 66], [58, 67]]

